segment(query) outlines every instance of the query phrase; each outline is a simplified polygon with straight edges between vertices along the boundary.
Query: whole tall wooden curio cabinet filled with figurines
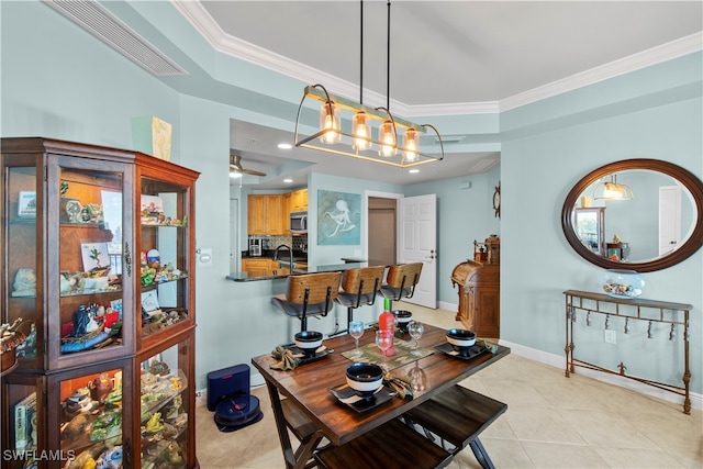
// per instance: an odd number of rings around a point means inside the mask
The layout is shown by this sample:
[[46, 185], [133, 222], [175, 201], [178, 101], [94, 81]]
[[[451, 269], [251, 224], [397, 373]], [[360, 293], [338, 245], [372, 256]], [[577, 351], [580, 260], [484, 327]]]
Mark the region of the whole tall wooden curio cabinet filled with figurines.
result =
[[1, 144], [2, 322], [26, 335], [2, 377], [2, 454], [19, 451], [3, 467], [198, 467], [198, 172], [80, 143]]

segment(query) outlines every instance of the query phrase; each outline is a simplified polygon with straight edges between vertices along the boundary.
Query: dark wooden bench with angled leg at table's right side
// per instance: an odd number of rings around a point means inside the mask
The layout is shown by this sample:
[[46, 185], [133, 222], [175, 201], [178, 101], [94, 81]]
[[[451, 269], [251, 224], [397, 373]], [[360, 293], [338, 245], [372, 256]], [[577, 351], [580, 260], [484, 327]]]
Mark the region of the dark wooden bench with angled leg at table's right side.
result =
[[454, 446], [456, 455], [471, 447], [482, 468], [494, 468], [479, 434], [507, 410], [504, 404], [461, 386], [454, 386], [403, 414], [409, 424], [417, 424]]

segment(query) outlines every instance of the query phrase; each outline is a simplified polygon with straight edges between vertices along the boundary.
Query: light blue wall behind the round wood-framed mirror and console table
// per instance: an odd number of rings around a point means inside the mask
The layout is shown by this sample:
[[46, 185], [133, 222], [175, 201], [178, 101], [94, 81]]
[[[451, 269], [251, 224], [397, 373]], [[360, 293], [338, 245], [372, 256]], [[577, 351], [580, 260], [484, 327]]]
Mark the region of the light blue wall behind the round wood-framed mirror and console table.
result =
[[[701, 177], [702, 109], [701, 54], [656, 67], [660, 77], [646, 69], [616, 80], [589, 87], [503, 114], [515, 137], [503, 142], [501, 154], [503, 221], [501, 265], [501, 337], [551, 354], [563, 354], [565, 312], [562, 292], [568, 289], [599, 291], [600, 269], [584, 263], [561, 232], [561, 204], [573, 185], [585, 174], [607, 163], [629, 158], [665, 159]], [[639, 78], [643, 78], [639, 81]], [[669, 93], [662, 102], [659, 90], [668, 82], [699, 80], [696, 92]], [[650, 85], [649, 87], [644, 83]], [[628, 94], [625, 102], [606, 97]], [[637, 89], [638, 93], [633, 93]], [[689, 90], [690, 91], [690, 90]], [[578, 110], [583, 93], [593, 101], [592, 112]], [[652, 99], [654, 98], [654, 99]], [[604, 109], [605, 108], [605, 109]], [[531, 112], [531, 110], [533, 112]], [[521, 115], [515, 115], [521, 114]], [[556, 114], [559, 114], [556, 118]], [[563, 120], [543, 129], [540, 120]], [[521, 122], [532, 132], [522, 132]], [[692, 389], [701, 392], [701, 315], [703, 306], [703, 253], [672, 268], [645, 273], [645, 297], [691, 303]], [[582, 319], [579, 323], [582, 325]], [[682, 386], [683, 344], [668, 340], [668, 330], [656, 327], [655, 339], [646, 337], [646, 322], [632, 334], [618, 334], [617, 347], [603, 343], [603, 324], [579, 336], [579, 353], [613, 369], [624, 361], [628, 372]], [[613, 326], [618, 332], [623, 324]], [[698, 376], [696, 376], [698, 375]]]

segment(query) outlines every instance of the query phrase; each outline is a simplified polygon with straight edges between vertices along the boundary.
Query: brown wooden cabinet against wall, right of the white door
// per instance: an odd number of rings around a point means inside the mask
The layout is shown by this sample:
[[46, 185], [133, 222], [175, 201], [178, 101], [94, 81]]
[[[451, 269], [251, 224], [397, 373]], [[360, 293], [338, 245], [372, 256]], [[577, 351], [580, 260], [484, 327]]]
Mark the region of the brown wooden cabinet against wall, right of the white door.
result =
[[500, 264], [467, 260], [451, 271], [451, 284], [459, 286], [457, 321], [479, 337], [500, 337]]

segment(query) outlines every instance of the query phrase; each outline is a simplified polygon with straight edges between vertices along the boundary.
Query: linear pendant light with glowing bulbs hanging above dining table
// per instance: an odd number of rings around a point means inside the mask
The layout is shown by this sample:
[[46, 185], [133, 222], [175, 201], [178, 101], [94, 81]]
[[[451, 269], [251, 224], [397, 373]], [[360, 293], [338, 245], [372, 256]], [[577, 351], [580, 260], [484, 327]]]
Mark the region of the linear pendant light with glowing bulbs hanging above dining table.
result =
[[[415, 124], [393, 116], [390, 112], [390, 27], [391, 2], [388, 5], [387, 36], [387, 93], [386, 107], [364, 104], [364, 2], [360, 2], [360, 77], [359, 102], [327, 92], [316, 83], [305, 87], [295, 118], [295, 146], [349, 156], [368, 161], [408, 168], [444, 159], [444, 144], [437, 130], [431, 124]], [[317, 131], [309, 136], [301, 133], [301, 116], [306, 99], [322, 101]], [[348, 123], [348, 129], [345, 130]], [[373, 124], [378, 125], [373, 131]], [[422, 146], [421, 135], [432, 131], [436, 137]], [[402, 133], [402, 146], [399, 144]], [[376, 149], [375, 149], [376, 148]]]

